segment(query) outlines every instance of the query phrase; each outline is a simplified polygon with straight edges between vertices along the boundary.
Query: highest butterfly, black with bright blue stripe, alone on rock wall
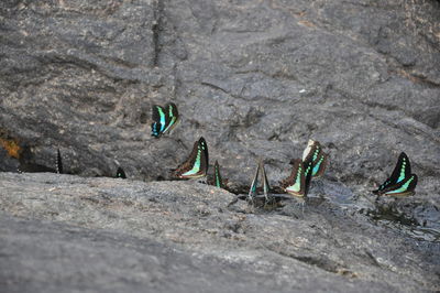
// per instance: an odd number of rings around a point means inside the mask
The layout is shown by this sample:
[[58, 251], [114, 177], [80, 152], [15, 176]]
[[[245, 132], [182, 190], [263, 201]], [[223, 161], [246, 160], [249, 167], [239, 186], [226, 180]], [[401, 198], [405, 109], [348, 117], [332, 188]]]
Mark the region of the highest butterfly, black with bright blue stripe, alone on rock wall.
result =
[[177, 106], [174, 102], [168, 102], [165, 107], [154, 105], [152, 107], [153, 123], [152, 135], [160, 138], [166, 131], [170, 131], [179, 120]]

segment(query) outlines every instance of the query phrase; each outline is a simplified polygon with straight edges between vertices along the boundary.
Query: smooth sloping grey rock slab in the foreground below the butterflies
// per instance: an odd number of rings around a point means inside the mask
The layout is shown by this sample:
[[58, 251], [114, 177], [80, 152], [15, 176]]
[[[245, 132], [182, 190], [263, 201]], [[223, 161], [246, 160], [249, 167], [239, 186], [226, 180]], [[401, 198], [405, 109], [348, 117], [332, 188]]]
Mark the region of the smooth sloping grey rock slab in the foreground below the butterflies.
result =
[[7, 292], [440, 289], [439, 242], [329, 200], [228, 209], [233, 194], [195, 182], [48, 173], [0, 173], [0, 187]]

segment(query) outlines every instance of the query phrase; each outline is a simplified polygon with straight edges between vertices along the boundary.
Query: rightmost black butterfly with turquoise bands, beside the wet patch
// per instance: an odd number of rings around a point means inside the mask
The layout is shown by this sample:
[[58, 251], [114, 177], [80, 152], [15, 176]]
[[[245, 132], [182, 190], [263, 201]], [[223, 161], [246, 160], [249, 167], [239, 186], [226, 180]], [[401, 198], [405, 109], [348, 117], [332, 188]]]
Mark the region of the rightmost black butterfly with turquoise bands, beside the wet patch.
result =
[[409, 159], [406, 153], [402, 152], [392, 176], [373, 193], [377, 195], [414, 195], [416, 185], [417, 175], [411, 174]]

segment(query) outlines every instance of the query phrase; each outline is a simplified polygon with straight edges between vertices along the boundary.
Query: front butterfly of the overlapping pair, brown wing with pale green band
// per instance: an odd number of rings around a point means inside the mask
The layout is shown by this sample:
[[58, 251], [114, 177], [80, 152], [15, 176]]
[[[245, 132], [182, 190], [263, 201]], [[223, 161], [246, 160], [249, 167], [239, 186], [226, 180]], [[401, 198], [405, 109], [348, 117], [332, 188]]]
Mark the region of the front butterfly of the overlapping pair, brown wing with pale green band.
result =
[[288, 194], [298, 197], [306, 197], [309, 191], [311, 176], [314, 173], [312, 160], [302, 162], [300, 159], [293, 160], [290, 175], [282, 181], [280, 187]]

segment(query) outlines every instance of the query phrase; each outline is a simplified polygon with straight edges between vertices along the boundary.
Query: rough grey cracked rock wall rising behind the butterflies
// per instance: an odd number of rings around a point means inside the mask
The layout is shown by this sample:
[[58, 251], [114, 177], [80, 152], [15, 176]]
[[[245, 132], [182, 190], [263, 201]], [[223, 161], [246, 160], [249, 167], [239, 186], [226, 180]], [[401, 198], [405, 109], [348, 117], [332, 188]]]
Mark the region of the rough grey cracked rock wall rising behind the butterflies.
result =
[[[438, 1], [0, 9], [1, 133], [24, 163], [53, 167], [59, 146], [69, 173], [114, 175], [118, 160], [130, 177], [169, 178], [204, 135], [231, 182], [246, 185], [263, 156], [275, 184], [315, 138], [328, 175], [358, 191], [381, 183], [400, 151], [420, 194], [440, 188]], [[182, 123], [155, 140], [151, 106], [169, 100]]]

